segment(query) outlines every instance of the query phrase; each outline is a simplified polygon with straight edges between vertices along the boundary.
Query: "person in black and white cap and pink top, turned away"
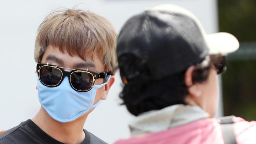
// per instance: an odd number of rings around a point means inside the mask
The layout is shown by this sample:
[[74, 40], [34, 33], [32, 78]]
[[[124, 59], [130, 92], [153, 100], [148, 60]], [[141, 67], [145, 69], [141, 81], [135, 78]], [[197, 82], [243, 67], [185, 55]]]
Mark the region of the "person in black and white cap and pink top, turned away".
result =
[[218, 74], [239, 42], [229, 33], [206, 35], [182, 7], [161, 5], [130, 18], [117, 39], [131, 137], [115, 144], [254, 144], [256, 122], [213, 118]]

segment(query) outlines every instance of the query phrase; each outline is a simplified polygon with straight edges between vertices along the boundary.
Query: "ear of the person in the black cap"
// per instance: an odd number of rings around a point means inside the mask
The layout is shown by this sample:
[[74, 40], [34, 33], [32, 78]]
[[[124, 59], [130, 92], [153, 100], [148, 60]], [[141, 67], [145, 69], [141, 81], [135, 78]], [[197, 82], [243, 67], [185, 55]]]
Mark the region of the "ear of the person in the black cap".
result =
[[193, 83], [193, 71], [195, 70], [195, 66], [190, 66], [187, 68], [187, 71], [185, 73], [185, 84], [188, 87], [189, 96], [201, 96], [201, 90], [198, 87], [197, 83]]

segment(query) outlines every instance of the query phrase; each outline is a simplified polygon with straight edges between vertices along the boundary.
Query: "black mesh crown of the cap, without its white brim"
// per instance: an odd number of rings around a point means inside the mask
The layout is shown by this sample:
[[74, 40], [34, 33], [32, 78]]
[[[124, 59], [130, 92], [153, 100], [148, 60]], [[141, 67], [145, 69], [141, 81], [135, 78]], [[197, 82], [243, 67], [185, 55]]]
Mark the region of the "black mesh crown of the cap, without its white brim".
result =
[[130, 18], [119, 34], [117, 56], [126, 53], [146, 63], [152, 79], [160, 79], [201, 62], [208, 48], [190, 17], [145, 11]]

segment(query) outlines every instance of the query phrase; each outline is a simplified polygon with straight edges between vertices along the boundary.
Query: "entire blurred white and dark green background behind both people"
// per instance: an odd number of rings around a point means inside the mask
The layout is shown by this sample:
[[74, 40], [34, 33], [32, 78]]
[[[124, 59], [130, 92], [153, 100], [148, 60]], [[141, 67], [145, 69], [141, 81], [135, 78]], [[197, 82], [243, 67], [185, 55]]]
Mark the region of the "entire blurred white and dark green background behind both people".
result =
[[[219, 78], [223, 91], [216, 117], [232, 114], [255, 120], [254, 0], [3, 0], [0, 2], [0, 131], [32, 118], [40, 109], [33, 49], [37, 27], [47, 14], [59, 7], [89, 9], [107, 18], [119, 32], [129, 17], [159, 4], [188, 9], [198, 17], [206, 33], [226, 31], [238, 38], [241, 47], [228, 56], [228, 69]], [[84, 126], [110, 144], [130, 136], [127, 125], [133, 116], [119, 105], [120, 91], [117, 72], [108, 99], [96, 107]]]

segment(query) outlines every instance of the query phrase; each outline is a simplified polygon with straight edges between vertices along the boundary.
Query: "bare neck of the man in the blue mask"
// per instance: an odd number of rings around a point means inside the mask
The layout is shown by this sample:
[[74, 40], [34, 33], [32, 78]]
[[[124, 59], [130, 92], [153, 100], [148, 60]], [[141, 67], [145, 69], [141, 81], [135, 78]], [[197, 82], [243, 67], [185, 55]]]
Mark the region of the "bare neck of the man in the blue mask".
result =
[[85, 138], [83, 125], [88, 114], [67, 123], [58, 122], [41, 107], [40, 111], [32, 118], [32, 121], [52, 138], [66, 143], [79, 144]]

